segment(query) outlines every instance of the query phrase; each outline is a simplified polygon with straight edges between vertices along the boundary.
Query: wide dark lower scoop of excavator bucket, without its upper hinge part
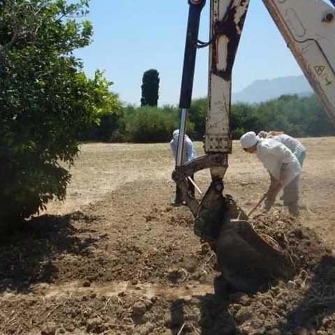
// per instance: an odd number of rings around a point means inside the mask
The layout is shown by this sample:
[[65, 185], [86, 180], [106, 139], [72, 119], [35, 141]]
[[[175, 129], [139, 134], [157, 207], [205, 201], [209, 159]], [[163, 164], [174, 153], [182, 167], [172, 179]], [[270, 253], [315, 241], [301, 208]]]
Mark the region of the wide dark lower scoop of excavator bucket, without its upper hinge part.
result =
[[260, 290], [274, 278], [288, 280], [293, 274], [281, 251], [262, 239], [248, 221], [225, 221], [216, 257], [228, 283], [244, 292]]

